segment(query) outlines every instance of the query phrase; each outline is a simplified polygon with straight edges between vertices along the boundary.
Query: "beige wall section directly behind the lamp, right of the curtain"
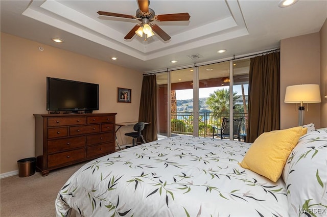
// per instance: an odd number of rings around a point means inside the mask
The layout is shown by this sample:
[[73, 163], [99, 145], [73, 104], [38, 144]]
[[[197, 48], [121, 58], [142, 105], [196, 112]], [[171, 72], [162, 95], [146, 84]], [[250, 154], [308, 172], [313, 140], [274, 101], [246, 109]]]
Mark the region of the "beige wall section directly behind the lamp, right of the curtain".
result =
[[[285, 103], [287, 86], [320, 84], [319, 33], [281, 40], [281, 129], [298, 125], [298, 111], [293, 103]], [[320, 103], [305, 104], [305, 124], [320, 128]]]

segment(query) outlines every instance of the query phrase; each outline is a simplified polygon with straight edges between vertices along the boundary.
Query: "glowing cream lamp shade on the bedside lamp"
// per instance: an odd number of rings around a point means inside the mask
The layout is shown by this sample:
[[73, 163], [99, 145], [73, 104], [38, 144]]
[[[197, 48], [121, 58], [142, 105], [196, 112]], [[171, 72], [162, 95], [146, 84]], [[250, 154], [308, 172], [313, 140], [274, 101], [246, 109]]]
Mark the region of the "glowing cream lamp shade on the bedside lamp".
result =
[[321, 102], [319, 85], [293, 85], [286, 87], [285, 100], [287, 103]]

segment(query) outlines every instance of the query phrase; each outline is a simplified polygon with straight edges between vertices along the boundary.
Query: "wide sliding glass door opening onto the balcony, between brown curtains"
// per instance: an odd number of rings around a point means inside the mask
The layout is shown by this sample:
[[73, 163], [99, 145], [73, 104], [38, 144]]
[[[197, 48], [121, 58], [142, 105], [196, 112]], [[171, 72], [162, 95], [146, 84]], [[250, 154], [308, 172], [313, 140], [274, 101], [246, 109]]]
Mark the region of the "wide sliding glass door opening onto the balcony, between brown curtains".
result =
[[248, 73], [238, 60], [157, 74], [158, 137], [216, 136], [224, 117], [243, 118], [246, 136]]

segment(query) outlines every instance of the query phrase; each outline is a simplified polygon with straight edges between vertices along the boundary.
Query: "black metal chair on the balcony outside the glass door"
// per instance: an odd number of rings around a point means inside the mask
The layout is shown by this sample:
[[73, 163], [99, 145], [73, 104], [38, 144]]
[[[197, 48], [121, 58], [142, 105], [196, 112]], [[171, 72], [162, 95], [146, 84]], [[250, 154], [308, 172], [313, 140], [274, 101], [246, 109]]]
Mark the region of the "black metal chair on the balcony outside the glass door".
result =
[[[243, 118], [233, 119], [233, 139], [238, 139], [239, 141], [241, 141], [240, 130], [242, 120]], [[229, 118], [223, 118], [221, 128], [215, 132], [216, 129], [217, 127], [213, 127], [213, 138], [216, 136], [220, 137], [220, 139], [229, 139]]]

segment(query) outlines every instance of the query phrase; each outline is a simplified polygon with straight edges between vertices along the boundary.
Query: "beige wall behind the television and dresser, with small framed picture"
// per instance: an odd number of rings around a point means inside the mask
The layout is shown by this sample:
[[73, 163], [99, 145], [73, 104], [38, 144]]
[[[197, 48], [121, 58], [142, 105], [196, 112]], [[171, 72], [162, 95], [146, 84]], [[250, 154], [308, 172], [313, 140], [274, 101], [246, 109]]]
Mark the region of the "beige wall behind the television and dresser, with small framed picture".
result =
[[[1, 174], [35, 155], [33, 114], [47, 113], [46, 76], [99, 84], [94, 113], [118, 113], [117, 122], [138, 119], [142, 72], [1, 33]], [[117, 87], [132, 89], [131, 103], [116, 102]]]

